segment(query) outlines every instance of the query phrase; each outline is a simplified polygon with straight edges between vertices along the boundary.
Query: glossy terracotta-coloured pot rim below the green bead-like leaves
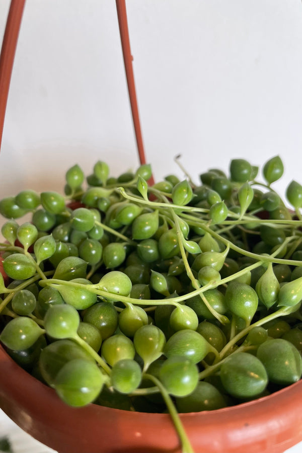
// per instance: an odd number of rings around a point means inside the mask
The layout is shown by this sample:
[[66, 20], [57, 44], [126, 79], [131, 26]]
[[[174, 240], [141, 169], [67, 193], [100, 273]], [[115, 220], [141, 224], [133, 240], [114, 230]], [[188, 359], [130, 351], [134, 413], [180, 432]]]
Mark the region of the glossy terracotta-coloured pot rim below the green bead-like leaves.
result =
[[[249, 403], [181, 418], [198, 453], [281, 453], [302, 440], [301, 403], [299, 381]], [[22, 429], [61, 453], [180, 451], [169, 415], [66, 406], [1, 346], [0, 406]]]

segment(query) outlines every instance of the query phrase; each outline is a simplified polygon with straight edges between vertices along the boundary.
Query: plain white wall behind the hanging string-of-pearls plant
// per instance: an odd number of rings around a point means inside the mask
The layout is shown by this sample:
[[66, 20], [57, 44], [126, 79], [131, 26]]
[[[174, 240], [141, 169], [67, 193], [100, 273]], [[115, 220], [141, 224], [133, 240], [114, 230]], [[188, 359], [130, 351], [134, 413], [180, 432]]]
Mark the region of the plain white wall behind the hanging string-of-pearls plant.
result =
[[[300, 0], [127, 0], [141, 126], [157, 180], [279, 154], [300, 177]], [[9, 0], [0, 2], [0, 36]], [[62, 190], [79, 163], [138, 159], [113, 0], [27, 0], [0, 155], [1, 195]]]

